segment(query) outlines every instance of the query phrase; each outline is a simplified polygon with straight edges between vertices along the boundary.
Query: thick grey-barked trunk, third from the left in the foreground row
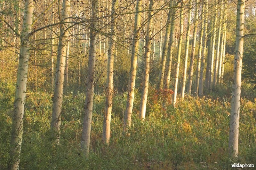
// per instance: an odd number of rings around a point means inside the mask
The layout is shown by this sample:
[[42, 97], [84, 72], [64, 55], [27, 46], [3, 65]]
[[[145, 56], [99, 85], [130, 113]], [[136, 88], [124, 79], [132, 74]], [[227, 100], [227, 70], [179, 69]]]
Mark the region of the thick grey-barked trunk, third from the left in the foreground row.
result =
[[92, 106], [93, 106], [93, 91], [95, 79], [95, 62], [97, 50], [97, 18], [98, 18], [98, 0], [92, 0], [92, 15], [90, 24], [90, 47], [88, 58], [88, 71], [87, 71], [87, 87], [86, 97], [84, 104], [84, 124], [82, 130], [81, 147], [88, 155], [92, 128]]

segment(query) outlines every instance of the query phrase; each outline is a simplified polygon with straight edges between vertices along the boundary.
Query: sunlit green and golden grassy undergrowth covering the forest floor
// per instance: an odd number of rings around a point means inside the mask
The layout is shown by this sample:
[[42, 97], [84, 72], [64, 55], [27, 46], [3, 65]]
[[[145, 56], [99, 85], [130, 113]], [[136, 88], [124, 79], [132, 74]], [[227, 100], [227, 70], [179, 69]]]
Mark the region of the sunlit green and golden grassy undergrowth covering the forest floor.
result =
[[[0, 94], [0, 167], [9, 159], [14, 88]], [[114, 97], [110, 145], [101, 142], [105, 98], [94, 98], [90, 154], [80, 150], [84, 93], [64, 96], [59, 148], [49, 135], [52, 96], [28, 93], [20, 169], [231, 169], [256, 164], [256, 101], [241, 99], [238, 160], [228, 158], [230, 98], [185, 97], [174, 108], [149, 91], [147, 115], [138, 119], [136, 91], [129, 136], [123, 133], [126, 94]], [[256, 100], [256, 99], [255, 99]], [[0, 168], [1, 169], [1, 168]]]

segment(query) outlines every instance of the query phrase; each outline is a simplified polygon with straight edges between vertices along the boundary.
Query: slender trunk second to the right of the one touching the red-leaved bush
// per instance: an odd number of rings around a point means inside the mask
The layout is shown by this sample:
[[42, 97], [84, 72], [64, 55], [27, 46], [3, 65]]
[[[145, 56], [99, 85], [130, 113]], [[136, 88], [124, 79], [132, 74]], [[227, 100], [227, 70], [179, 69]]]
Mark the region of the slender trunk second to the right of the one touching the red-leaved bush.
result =
[[198, 0], [196, 0], [196, 9], [195, 9], [195, 18], [194, 18], [194, 31], [193, 31], [193, 44], [192, 44], [192, 52], [190, 56], [190, 65], [189, 65], [189, 75], [188, 75], [188, 89], [187, 93], [191, 93], [191, 87], [192, 87], [192, 79], [193, 79], [193, 67], [194, 67], [194, 60], [195, 60], [195, 51], [196, 51], [196, 33], [197, 33], [197, 24], [198, 24]]

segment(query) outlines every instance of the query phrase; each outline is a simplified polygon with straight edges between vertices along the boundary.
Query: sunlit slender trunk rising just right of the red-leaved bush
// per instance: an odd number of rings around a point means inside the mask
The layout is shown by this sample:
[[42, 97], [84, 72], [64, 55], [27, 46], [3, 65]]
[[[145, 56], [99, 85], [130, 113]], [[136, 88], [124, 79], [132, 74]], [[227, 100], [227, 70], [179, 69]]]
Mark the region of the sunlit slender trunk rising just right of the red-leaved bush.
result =
[[180, 69], [180, 54], [181, 54], [181, 42], [182, 42], [182, 35], [183, 35], [183, 1], [180, 4], [180, 34], [179, 42], [178, 42], [178, 52], [177, 52], [177, 60], [176, 60], [176, 73], [175, 73], [175, 81], [174, 81], [174, 93], [172, 98], [172, 104], [175, 106], [176, 98], [177, 98], [177, 90], [178, 90], [178, 80], [179, 80], [179, 69]]

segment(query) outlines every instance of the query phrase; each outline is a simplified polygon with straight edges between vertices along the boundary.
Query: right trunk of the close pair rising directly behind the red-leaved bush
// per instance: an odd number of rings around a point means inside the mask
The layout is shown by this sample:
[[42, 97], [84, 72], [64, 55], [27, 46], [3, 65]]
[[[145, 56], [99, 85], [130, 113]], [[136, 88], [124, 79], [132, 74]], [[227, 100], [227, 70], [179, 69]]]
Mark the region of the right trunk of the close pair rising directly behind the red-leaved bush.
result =
[[[172, 1], [172, 6], [174, 6], [175, 1]], [[169, 89], [170, 84], [170, 77], [171, 77], [171, 69], [172, 69], [172, 51], [174, 45], [174, 30], [175, 30], [175, 10], [172, 9], [172, 20], [171, 20], [171, 31], [170, 31], [170, 38], [169, 38], [169, 46], [168, 46], [168, 54], [167, 54], [167, 67], [165, 69], [164, 74], [164, 88]]]

